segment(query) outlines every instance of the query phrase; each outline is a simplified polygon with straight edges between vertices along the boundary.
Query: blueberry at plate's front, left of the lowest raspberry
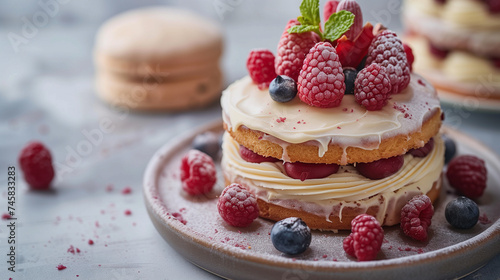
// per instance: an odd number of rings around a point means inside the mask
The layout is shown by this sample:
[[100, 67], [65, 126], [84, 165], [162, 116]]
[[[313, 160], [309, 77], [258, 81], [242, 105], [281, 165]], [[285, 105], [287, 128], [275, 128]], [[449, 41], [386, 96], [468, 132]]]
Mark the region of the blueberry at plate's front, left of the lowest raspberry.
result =
[[311, 244], [311, 230], [300, 218], [286, 218], [274, 224], [271, 241], [280, 252], [300, 254]]

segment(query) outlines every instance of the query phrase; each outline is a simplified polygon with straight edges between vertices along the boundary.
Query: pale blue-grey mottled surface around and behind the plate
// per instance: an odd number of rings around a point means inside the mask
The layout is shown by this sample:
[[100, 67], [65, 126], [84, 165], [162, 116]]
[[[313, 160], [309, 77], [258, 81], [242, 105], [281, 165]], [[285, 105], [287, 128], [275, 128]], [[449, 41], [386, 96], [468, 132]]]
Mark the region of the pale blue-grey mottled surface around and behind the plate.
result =
[[[1, 214], [7, 212], [7, 167], [15, 166], [18, 174], [16, 272], [7, 270], [9, 232], [7, 221], [1, 220], [2, 278], [218, 279], [184, 260], [160, 237], [146, 213], [141, 184], [157, 149], [193, 127], [219, 119], [220, 106], [138, 114], [103, 104], [94, 90], [94, 35], [107, 18], [128, 9], [156, 4], [193, 9], [224, 29], [222, 65], [229, 84], [246, 74], [251, 49], [276, 48], [284, 23], [298, 15], [299, 2], [1, 1]], [[402, 30], [400, 1], [359, 2], [365, 20]], [[28, 28], [30, 24], [35, 28]], [[459, 104], [445, 106], [444, 111], [447, 125], [500, 153], [500, 108], [495, 113]], [[103, 121], [112, 123], [112, 131], [100, 130]], [[50, 148], [58, 171], [50, 192], [30, 191], [20, 179], [18, 153], [35, 139]], [[123, 192], [127, 188], [128, 194]], [[73, 254], [71, 248], [80, 252]], [[67, 268], [58, 271], [59, 264]], [[498, 275], [500, 256], [466, 279], [499, 279]]]

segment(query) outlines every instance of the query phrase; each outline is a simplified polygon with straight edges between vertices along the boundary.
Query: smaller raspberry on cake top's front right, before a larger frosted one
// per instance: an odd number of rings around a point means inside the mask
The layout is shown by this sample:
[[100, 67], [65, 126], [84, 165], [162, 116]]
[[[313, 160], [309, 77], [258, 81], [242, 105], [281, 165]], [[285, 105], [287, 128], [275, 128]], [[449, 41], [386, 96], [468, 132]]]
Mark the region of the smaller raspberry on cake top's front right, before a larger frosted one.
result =
[[385, 68], [372, 63], [359, 71], [354, 81], [354, 97], [366, 110], [377, 111], [387, 104], [391, 88]]

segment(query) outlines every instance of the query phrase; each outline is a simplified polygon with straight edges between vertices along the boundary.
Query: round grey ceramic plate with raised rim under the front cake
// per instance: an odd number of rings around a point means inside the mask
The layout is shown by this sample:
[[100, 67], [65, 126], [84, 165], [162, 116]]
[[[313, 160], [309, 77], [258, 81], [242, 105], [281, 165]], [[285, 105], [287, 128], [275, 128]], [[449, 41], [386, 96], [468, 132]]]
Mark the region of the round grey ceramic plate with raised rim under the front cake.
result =
[[457, 131], [443, 129], [455, 139], [460, 154], [475, 154], [487, 163], [488, 187], [477, 200], [480, 222], [470, 230], [456, 230], [446, 222], [444, 208], [456, 194], [444, 182], [428, 241], [414, 241], [398, 226], [385, 227], [382, 249], [369, 262], [345, 254], [342, 241], [347, 231], [313, 231], [309, 249], [288, 256], [271, 243], [272, 221], [259, 218], [248, 228], [227, 225], [216, 207], [224, 187], [222, 175], [210, 194], [187, 195], [180, 185], [180, 159], [193, 138], [206, 131], [220, 133], [221, 122], [190, 131], [152, 157], [144, 176], [144, 196], [161, 236], [184, 258], [211, 273], [229, 279], [451, 279], [477, 270], [500, 253], [500, 160]]

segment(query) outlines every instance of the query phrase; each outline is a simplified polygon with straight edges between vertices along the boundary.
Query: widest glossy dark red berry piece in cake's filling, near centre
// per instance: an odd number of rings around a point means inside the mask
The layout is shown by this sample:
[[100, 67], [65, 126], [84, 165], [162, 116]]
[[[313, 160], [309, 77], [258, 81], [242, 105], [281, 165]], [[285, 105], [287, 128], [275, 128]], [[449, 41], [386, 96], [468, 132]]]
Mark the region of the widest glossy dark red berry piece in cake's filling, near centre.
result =
[[337, 164], [324, 163], [285, 162], [283, 167], [288, 176], [301, 181], [325, 178], [339, 170]]

